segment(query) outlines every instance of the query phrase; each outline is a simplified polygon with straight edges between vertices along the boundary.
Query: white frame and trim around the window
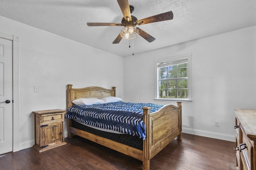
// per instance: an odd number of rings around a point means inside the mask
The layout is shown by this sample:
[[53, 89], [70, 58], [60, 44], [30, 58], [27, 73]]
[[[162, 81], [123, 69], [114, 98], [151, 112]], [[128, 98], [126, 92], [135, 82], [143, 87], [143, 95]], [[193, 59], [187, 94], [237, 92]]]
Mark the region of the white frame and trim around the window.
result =
[[[165, 57], [165, 58], [158, 58], [154, 59], [154, 77], [155, 77], [155, 101], [170, 101], [170, 102], [176, 102], [176, 101], [184, 101], [184, 102], [191, 102], [192, 101], [192, 73], [191, 73], [191, 57], [192, 57], [192, 52], [190, 53], [184, 53], [180, 55], [174, 55], [171, 57]], [[165, 63], [165, 62], [170, 62], [170, 61], [177, 61], [177, 60], [182, 60], [182, 59], [188, 59], [188, 98], [186, 99], [172, 99], [172, 98], [167, 98], [167, 99], [160, 99], [159, 98], [159, 90], [158, 90], [158, 68], [157, 65], [159, 63]]]

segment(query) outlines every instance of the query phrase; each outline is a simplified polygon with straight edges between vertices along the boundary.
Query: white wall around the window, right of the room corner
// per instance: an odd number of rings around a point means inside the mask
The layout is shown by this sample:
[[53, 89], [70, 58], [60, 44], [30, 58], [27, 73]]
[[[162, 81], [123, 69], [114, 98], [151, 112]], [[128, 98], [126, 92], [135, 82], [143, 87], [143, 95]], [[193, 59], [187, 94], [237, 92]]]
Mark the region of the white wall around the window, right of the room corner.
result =
[[182, 131], [235, 141], [234, 109], [256, 109], [256, 26], [125, 57], [126, 101], [160, 103], [153, 100], [154, 59], [189, 52], [193, 101], [182, 103]]

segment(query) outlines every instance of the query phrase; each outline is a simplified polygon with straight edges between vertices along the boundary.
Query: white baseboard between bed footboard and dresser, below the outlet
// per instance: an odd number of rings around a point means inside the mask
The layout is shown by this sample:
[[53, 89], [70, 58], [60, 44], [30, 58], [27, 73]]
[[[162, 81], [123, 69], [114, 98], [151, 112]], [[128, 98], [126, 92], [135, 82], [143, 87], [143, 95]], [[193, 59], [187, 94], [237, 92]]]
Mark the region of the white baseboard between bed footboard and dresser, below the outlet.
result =
[[236, 141], [236, 136], [235, 135], [230, 135], [230, 134], [222, 134], [222, 133], [216, 133], [216, 132], [208, 132], [204, 130], [196, 130], [192, 128], [182, 128], [183, 133], [188, 133], [188, 134], [194, 134], [198, 136], [204, 136], [208, 138], [216, 138], [220, 140], [227, 140], [231, 142]]

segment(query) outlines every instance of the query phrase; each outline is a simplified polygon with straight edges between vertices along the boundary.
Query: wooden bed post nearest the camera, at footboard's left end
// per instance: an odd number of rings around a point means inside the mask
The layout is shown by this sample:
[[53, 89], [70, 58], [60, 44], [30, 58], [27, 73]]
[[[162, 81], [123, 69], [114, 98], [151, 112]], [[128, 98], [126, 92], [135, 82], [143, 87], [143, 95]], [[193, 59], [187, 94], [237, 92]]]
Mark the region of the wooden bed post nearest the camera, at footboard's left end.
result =
[[143, 140], [143, 170], [149, 170], [150, 167], [150, 109], [151, 107], [143, 107], [143, 121], [146, 130], [146, 138]]

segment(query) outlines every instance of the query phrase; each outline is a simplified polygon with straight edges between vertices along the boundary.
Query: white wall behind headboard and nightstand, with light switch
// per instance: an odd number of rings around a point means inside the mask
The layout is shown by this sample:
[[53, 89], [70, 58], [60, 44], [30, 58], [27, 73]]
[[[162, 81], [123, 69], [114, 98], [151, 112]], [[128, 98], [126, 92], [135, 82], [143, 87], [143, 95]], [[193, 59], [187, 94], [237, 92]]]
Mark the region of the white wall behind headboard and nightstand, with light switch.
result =
[[[32, 111], [66, 109], [67, 84], [74, 88], [116, 86], [116, 95], [124, 98], [123, 57], [2, 16], [0, 23], [1, 33], [20, 38], [20, 149], [34, 144]], [[39, 87], [38, 93], [34, 86]]]

